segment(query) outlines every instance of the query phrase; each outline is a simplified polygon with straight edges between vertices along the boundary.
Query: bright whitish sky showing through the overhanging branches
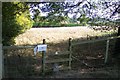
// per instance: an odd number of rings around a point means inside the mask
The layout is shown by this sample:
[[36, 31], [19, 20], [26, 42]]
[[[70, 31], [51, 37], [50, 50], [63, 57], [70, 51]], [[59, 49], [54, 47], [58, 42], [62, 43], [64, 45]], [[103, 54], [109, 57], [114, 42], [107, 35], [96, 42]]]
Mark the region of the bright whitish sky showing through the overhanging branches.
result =
[[[66, 0], [66, 1], [68, 2], [70, 0]], [[80, 1], [82, 1], [82, 0], [72, 0], [70, 2], [72, 2], [72, 4], [77, 4]], [[90, 1], [91, 4], [93, 4], [93, 3], [97, 4], [98, 2], [104, 2], [104, 1], [106, 1], [106, 2], [110, 2], [109, 5], [114, 4], [114, 2], [119, 2], [118, 0], [87, 0], [87, 1]], [[74, 8], [72, 11], [70, 11], [68, 13], [68, 17], [70, 17], [70, 18], [79, 18], [81, 16], [80, 12], [82, 12], [82, 9], [83, 9], [82, 7], [84, 5], [88, 5], [88, 7], [90, 7], [87, 1], [84, 1], [82, 4], [80, 4], [80, 6]], [[39, 6], [45, 8], [44, 4], [39, 4]], [[109, 8], [106, 8], [106, 9], [104, 9], [104, 8], [105, 8], [105, 5], [99, 4], [99, 6], [97, 6], [97, 9], [91, 9], [90, 10], [90, 12], [92, 13], [92, 15], [87, 14], [87, 8], [84, 7], [84, 10], [86, 11], [87, 17], [92, 18], [92, 17], [95, 17], [95, 16], [96, 17], [99, 16], [101, 18], [110, 19], [110, 15], [115, 10], [114, 6], [111, 5]], [[34, 7], [34, 9], [38, 9], [38, 8]], [[79, 9], [79, 11], [78, 11], [78, 9]], [[69, 8], [65, 9], [65, 11], [67, 11], [67, 10], [69, 10]], [[40, 16], [47, 16], [48, 13], [49, 13], [49, 12], [43, 12], [40, 9], [39, 9], [39, 11], [41, 13]], [[74, 12], [77, 12], [77, 13], [74, 13]], [[32, 12], [30, 12], [30, 14], [33, 15]], [[119, 18], [120, 18], [119, 14], [115, 14], [114, 16], [111, 17], [111, 20], [116, 20], [116, 19], [119, 19]]]

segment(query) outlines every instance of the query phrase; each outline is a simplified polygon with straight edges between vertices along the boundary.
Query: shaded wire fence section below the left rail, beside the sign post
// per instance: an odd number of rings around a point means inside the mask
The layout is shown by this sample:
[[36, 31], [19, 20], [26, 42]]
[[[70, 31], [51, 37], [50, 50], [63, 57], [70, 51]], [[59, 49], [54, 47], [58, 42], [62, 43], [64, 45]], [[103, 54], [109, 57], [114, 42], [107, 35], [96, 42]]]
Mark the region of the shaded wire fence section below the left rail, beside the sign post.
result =
[[[38, 73], [39, 72], [39, 73]], [[5, 77], [28, 77], [41, 72], [41, 55], [33, 54], [33, 49], [4, 50]]]

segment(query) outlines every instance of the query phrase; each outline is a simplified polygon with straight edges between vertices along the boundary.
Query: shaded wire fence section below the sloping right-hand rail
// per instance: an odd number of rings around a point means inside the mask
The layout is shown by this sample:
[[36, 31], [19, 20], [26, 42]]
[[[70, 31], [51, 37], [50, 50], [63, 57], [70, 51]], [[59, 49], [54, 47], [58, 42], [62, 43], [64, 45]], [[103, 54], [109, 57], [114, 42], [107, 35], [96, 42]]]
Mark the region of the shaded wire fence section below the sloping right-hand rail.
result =
[[[82, 67], [95, 68], [104, 67], [106, 63], [112, 63], [112, 57], [120, 48], [116, 48], [116, 42], [120, 37], [110, 37], [99, 40], [74, 42], [72, 44], [72, 68]], [[78, 65], [78, 66], [76, 66]]]

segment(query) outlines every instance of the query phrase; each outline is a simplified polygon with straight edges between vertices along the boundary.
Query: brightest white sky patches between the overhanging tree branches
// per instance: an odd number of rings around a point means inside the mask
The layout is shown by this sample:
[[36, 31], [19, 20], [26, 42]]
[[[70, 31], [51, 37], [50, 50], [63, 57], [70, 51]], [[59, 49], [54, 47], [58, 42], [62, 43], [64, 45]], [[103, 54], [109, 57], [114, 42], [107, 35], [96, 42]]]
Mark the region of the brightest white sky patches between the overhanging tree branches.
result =
[[[67, 0], [67, 1], [69, 1], [69, 0]], [[79, 2], [79, 1], [82, 1], [82, 0], [74, 0], [73, 2], [75, 3], [75, 4], [77, 4], [77, 2]], [[92, 2], [95, 2], [95, 3], [97, 3], [98, 1], [103, 1], [103, 0], [87, 0], [87, 1], [91, 1], [91, 3]], [[118, 1], [118, 0], [104, 0], [104, 1]], [[80, 7], [82, 7], [82, 5], [84, 5], [84, 4], [87, 4], [87, 2], [85, 1], [83, 4], [81, 4], [80, 6], [78, 6], [78, 7], [76, 7], [76, 8], [74, 8], [73, 9], [73, 12], [77, 12], [77, 9], [78, 8], [80, 8]], [[44, 4], [40, 4], [39, 5], [40, 7], [43, 7], [44, 6]], [[34, 9], [37, 9], [37, 7], [34, 7]], [[66, 10], [68, 10], [68, 9], [65, 9], [65, 11]], [[113, 9], [113, 7], [111, 6], [111, 10], [114, 10]], [[91, 12], [93, 13], [93, 14], [96, 14], [96, 15], [99, 15], [101, 18], [109, 18], [110, 17], [110, 14], [111, 14], [111, 12], [112, 11], [110, 11], [110, 9], [106, 9], [106, 10], [104, 10], [103, 11], [103, 6], [102, 5], [99, 5], [99, 7], [98, 7], [98, 9], [96, 9], [96, 10], [91, 10]], [[109, 12], [109, 13], [108, 13]], [[40, 10], [40, 15], [41, 16], [47, 16], [48, 15], [48, 12], [42, 12], [41, 10]], [[30, 13], [31, 15], [33, 15], [32, 13]], [[80, 17], [80, 13], [68, 13], [68, 16], [70, 17], [70, 18], [73, 18], [73, 16], [75, 16], [76, 15], [76, 18], [79, 18]], [[118, 14], [117, 15], [115, 15], [114, 16], [114, 18], [118, 18]]]

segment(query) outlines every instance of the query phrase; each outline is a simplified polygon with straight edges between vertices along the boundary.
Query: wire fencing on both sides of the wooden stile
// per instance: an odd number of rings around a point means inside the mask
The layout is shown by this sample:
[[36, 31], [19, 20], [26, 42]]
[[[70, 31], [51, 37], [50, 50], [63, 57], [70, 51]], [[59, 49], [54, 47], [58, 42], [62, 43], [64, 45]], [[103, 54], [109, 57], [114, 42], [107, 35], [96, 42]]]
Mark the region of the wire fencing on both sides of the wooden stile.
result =
[[[117, 38], [120, 38], [120, 36], [83, 42], [74, 42], [74, 40], [70, 41], [69, 47], [72, 52], [71, 69], [78, 70], [81, 67], [99, 68], [103, 67], [106, 62], [112, 62], [111, 55], [114, 53]], [[35, 46], [3, 46], [4, 76], [6, 78], [37, 77], [41, 75], [42, 54], [37, 54], [37, 56], [34, 56], [34, 47]], [[119, 48], [117, 49], [119, 50]], [[53, 58], [50, 55], [46, 55], [46, 57], [51, 59]], [[62, 55], [59, 57], [65, 58], [70, 56]], [[68, 62], [70, 61], [68, 60]], [[51, 66], [53, 66], [53, 64]], [[49, 67], [50, 66], [46, 66], [46, 68]]]

